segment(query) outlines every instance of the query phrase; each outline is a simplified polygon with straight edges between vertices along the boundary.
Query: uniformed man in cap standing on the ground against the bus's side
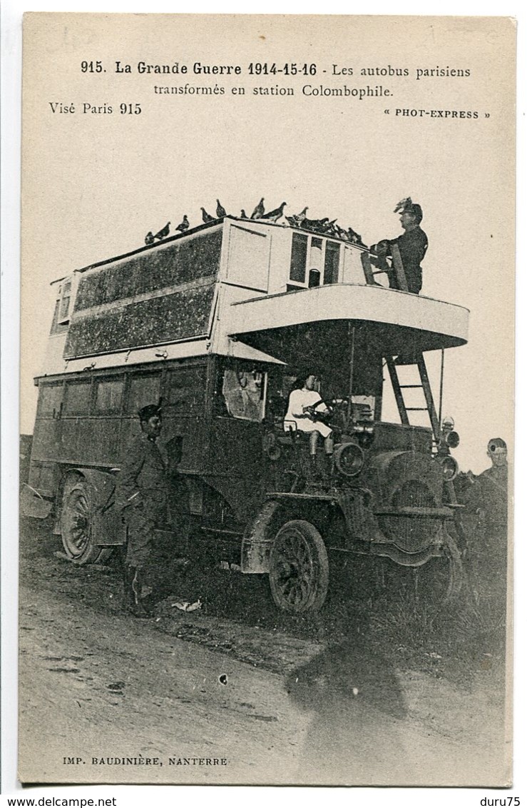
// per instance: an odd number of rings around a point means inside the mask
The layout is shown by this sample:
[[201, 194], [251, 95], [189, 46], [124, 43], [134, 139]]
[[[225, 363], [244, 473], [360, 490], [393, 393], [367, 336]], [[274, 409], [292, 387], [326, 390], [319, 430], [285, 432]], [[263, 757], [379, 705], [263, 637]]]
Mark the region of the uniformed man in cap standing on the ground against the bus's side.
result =
[[161, 408], [150, 404], [139, 410], [141, 433], [123, 455], [116, 485], [116, 505], [127, 525], [124, 562], [124, 603], [134, 617], [149, 617], [141, 602], [144, 569], [152, 556], [155, 528], [165, 521], [166, 465], [157, 438], [161, 434]]

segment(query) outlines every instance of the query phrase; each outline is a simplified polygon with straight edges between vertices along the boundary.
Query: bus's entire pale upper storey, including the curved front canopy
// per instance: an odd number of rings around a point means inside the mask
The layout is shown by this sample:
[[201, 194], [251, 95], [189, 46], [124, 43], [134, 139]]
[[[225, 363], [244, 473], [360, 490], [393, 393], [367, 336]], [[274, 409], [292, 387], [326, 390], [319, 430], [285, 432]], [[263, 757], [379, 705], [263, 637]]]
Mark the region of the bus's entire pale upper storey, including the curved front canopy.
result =
[[282, 329], [298, 343], [294, 332], [309, 323], [326, 337], [331, 323], [337, 340], [346, 321], [368, 324], [389, 350], [466, 342], [466, 309], [371, 284], [366, 252], [333, 235], [225, 217], [84, 267], [56, 283], [42, 375], [207, 353], [273, 362]]

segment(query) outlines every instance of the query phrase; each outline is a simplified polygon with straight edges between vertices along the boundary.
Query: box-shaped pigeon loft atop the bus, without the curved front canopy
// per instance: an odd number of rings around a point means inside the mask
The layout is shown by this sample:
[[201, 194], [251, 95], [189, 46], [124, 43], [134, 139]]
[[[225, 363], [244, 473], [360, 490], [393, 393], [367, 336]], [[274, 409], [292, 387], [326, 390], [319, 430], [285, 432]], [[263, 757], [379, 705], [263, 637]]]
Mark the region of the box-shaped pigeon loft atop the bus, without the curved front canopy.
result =
[[84, 267], [57, 282], [45, 370], [190, 339], [223, 342], [226, 350], [222, 315], [232, 302], [363, 284], [363, 252], [338, 238], [228, 217]]

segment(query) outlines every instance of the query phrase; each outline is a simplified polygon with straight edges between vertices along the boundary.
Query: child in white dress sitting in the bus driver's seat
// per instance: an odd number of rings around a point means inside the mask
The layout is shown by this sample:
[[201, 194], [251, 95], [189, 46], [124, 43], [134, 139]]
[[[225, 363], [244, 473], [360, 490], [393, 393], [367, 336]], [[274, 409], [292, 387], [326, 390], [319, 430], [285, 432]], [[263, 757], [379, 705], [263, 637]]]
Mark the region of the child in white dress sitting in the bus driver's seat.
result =
[[[333, 430], [319, 419], [319, 415], [329, 413], [328, 406], [320, 398], [316, 386], [318, 379], [312, 372], [307, 372], [295, 381], [295, 386], [289, 396], [287, 415], [284, 419], [286, 431], [293, 428], [302, 432], [309, 432], [309, 453], [314, 460], [316, 457], [316, 444], [319, 436], [324, 438], [324, 451], [333, 453]], [[295, 426], [293, 426], [293, 424]]]

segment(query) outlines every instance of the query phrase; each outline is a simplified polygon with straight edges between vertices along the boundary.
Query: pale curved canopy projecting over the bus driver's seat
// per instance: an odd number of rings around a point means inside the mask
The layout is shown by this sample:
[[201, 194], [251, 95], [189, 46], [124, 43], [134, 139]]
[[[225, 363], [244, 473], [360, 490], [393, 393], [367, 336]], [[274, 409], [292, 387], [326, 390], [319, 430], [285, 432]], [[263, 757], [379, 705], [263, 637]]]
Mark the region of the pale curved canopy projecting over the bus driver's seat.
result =
[[[232, 304], [229, 335], [286, 362], [320, 345], [362, 344], [383, 356], [464, 345], [468, 309], [377, 286], [334, 284]], [[309, 349], [307, 350], [307, 348]]]

